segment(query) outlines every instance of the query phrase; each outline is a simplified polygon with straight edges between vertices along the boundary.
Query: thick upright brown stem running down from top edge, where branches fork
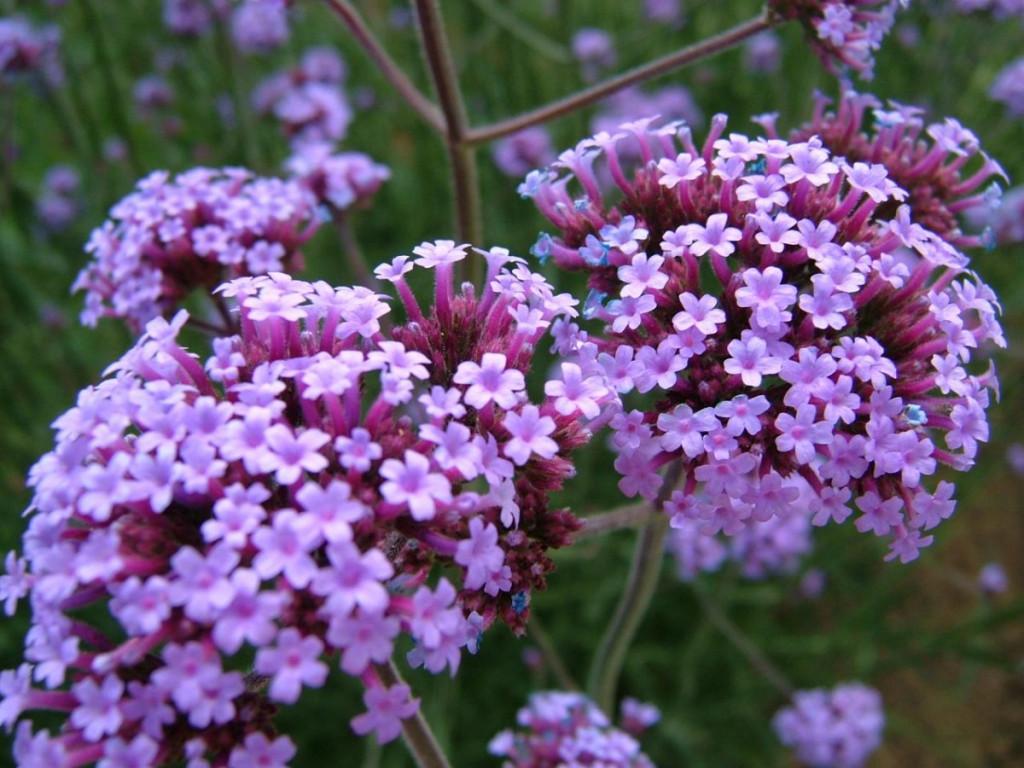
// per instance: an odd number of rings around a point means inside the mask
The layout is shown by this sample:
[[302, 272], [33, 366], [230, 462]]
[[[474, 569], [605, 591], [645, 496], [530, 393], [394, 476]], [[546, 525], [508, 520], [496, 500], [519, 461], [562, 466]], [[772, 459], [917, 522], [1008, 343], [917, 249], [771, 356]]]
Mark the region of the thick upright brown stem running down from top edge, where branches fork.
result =
[[[456, 228], [464, 243], [482, 245], [482, 219], [480, 216], [480, 189], [476, 170], [476, 153], [469, 145], [469, 118], [466, 103], [459, 87], [459, 77], [452, 48], [444, 32], [437, 0], [415, 0], [423, 53], [434, 81], [434, 90], [444, 115], [444, 134], [447, 143], [452, 186], [455, 191]], [[480, 260], [472, 259], [471, 268], [479, 269]], [[480, 275], [471, 274], [471, 280]]]

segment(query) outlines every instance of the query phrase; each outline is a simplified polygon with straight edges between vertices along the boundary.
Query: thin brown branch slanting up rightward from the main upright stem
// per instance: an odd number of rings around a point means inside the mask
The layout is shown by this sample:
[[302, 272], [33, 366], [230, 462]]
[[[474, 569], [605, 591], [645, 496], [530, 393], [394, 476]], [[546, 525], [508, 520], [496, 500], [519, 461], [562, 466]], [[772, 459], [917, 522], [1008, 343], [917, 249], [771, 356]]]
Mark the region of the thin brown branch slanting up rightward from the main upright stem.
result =
[[623, 88], [635, 85], [636, 83], [642, 83], [659, 75], [665, 75], [673, 70], [678, 70], [694, 61], [699, 61], [702, 58], [708, 58], [720, 51], [731, 48], [759, 32], [773, 27], [775, 24], [776, 19], [765, 11], [761, 15], [738, 24], [720, 35], [701, 40], [699, 43], [689, 45], [675, 53], [669, 53], [660, 58], [655, 58], [653, 61], [624, 72], [589, 88], [584, 88], [570, 96], [552, 101], [549, 104], [539, 106], [536, 110], [530, 110], [507, 120], [474, 128], [466, 136], [466, 141], [471, 144], [483, 143], [484, 141], [490, 141], [502, 136], [507, 136], [510, 133], [515, 133], [538, 123], [546, 123], [549, 120], [587, 106]]

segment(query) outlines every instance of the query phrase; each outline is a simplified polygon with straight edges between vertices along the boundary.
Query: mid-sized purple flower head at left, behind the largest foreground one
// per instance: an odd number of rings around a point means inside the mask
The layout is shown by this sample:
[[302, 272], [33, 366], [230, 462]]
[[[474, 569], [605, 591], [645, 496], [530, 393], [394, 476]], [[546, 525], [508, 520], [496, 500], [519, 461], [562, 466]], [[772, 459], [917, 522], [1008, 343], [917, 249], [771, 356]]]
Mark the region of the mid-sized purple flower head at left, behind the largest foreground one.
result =
[[82, 323], [113, 316], [138, 330], [197, 288], [299, 269], [315, 226], [314, 202], [294, 181], [239, 168], [151, 173], [89, 238], [92, 260], [74, 286], [86, 294]]

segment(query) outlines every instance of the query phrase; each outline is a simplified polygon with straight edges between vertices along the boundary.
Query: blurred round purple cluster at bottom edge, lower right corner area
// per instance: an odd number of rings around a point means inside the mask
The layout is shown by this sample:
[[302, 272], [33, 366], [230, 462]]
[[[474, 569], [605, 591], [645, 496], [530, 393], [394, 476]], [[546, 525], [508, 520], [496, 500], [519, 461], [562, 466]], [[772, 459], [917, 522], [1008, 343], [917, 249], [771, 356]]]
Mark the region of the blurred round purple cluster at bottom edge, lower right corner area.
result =
[[802, 765], [859, 768], [882, 743], [882, 696], [862, 683], [797, 691], [773, 725]]

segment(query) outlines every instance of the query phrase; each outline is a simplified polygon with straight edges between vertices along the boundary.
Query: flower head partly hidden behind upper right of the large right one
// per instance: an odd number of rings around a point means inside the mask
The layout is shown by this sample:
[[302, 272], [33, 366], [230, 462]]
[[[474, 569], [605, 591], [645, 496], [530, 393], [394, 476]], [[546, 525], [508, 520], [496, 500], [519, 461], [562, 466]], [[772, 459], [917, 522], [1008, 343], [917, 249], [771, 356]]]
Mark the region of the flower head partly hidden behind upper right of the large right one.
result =
[[[985, 184], [1007, 176], [986, 155], [978, 137], [959, 121], [929, 123], [923, 111], [895, 101], [883, 106], [870, 94], [846, 90], [835, 109], [818, 94], [813, 119], [794, 131], [791, 142], [818, 137], [833, 155], [850, 164], [881, 165], [906, 193], [913, 220], [957, 248], [985, 245], [961, 230], [958, 216], [990, 206]], [[762, 124], [778, 138], [774, 120]], [[970, 169], [970, 172], [968, 172]]]

